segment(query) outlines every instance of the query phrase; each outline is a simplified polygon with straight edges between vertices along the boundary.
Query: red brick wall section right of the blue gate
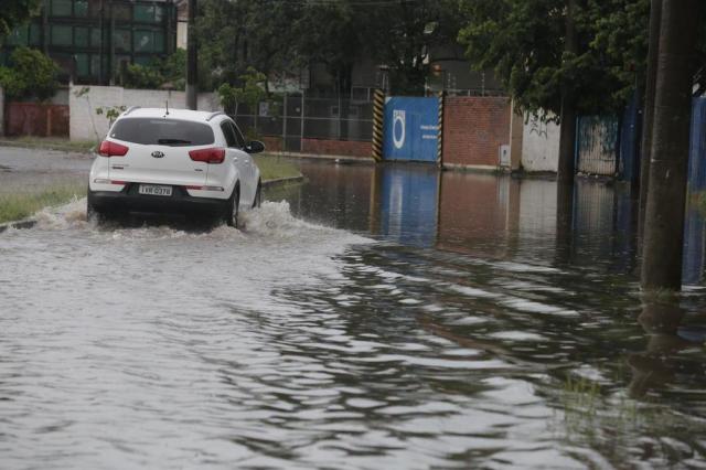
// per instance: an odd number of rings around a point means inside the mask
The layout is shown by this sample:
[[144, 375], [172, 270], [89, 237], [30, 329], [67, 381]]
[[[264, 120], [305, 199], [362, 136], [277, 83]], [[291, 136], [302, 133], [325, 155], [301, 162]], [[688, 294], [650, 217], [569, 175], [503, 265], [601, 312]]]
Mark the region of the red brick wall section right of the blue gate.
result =
[[443, 104], [443, 164], [498, 167], [510, 145], [506, 97], [449, 96]]

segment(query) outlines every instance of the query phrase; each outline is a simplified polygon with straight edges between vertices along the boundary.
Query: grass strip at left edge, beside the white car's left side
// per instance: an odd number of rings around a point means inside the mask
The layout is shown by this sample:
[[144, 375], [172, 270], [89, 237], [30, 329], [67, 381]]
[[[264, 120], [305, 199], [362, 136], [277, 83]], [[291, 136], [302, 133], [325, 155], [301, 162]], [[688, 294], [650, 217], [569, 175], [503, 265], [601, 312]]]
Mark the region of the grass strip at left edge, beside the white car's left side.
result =
[[57, 185], [39, 193], [0, 194], [0, 223], [21, 221], [44, 207], [67, 203], [85, 193], [84, 185]]

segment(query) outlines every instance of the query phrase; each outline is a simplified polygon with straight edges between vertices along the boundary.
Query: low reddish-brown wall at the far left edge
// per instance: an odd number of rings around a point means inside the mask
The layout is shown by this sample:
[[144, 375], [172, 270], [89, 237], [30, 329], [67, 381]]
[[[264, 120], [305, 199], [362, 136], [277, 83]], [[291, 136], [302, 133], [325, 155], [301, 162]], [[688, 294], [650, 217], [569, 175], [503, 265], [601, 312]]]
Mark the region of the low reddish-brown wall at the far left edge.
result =
[[9, 103], [8, 136], [68, 137], [68, 106]]

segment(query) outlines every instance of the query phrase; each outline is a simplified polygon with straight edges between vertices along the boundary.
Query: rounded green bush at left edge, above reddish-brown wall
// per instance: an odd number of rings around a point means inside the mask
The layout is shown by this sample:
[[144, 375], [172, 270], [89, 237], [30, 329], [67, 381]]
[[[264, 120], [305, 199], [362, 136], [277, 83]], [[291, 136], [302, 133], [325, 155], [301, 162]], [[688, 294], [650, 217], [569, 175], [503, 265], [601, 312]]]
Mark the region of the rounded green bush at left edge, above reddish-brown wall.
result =
[[18, 47], [10, 55], [11, 67], [0, 67], [0, 86], [12, 99], [47, 100], [56, 93], [58, 66], [35, 49]]

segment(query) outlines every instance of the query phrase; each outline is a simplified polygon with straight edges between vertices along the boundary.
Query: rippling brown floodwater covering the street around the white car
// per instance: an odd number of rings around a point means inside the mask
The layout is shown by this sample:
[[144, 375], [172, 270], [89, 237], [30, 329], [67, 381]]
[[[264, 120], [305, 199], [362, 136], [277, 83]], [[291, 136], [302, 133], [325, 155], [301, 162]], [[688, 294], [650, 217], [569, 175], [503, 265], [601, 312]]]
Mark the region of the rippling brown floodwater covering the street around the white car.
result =
[[643, 299], [619, 186], [302, 171], [243, 231], [1, 234], [0, 467], [706, 467], [698, 211]]

